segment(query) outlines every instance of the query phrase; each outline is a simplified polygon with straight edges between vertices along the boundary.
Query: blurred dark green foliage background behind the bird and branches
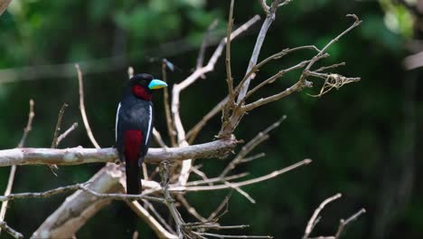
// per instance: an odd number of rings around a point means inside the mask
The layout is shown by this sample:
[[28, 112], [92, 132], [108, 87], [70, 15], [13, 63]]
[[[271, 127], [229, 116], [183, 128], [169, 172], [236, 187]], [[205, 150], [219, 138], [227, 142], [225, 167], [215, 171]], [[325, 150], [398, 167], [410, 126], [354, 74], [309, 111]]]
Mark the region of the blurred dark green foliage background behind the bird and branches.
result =
[[[390, 0], [295, 0], [280, 8], [259, 59], [287, 47], [315, 44], [323, 47], [350, 24], [345, 14], [357, 14], [362, 25], [329, 50], [324, 65], [346, 62], [334, 72], [358, 76], [362, 81], [318, 93], [315, 88], [253, 110], [235, 132], [249, 140], [287, 115], [272, 131], [271, 139], [255, 149], [266, 152], [235, 172], [249, 171], [249, 177], [313, 158], [313, 164], [286, 175], [244, 189], [257, 200], [250, 204], [233, 193], [230, 212], [222, 224], [250, 227], [239, 234], [270, 234], [276, 238], [299, 238], [309, 217], [326, 197], [340, 192], [343, 197], [327, 206], [314, 235], [334, 234], [340, 218], [365, 207], [367, 214], [350, 225], [343, 238], [422, 238], [422, 147], [423, 6], [422, 1]], [[261, 14], [258, 1], [236, 1], [235, 27]], [[102, 147], [114, 145], [116, 106], [127, 67], [161, 77], [166, 58], [177, 69], [168, 72], [170, 84], [182, 81], [195, 67], [202, 36], [217, 19], [211, 33], [206, 61], [213, 43], [225, 34], [229, 1], [38, 1], [14, 0], [0, 17], [0, 148], [14, 148], [26, 124], [28, 101], [35, 101], [35, 118], [25, 146], [50, 148], [57, 114], [69, 103], [62, 129], [73, 122], [80, 127], [61, 143], [61, 148], [92, 148], [82, 127], [78, 101], [78, 80], [73, 64], [80, 62], [84, 73], [85, 101], [91, 128]], [[232, 74], [240, 81], [249, 62], [259, 30], [256, 24], [231, 44]], [[312, 53], [296, 53], [268, 63], [257, 80], [283, 67], [302, 61]], [[422, 57], [420, 57], [422, 58]], [[406, 60], [405, 60], [406, 59]], [[321, 63], [322, 65], [322, 63]], [[298, 72], [280, 79], [258, 93], [258, 97], [280, 91], [297, 80]], [[256, 81], [257, 82], [257, 81]], [[215, 71], [183, 91], [181, 114], [190, 129], [226, 94], [223, 58]], [[165, 136], [163, 99], [155, 95], [155, 126]], [[196, 143], [210, 141], [220, 129], [220, 116], [202, 130]], [[198, 160], [209, 177], [219, 175], [227, 162]], [[13, 192], [36, 192], [71, 185], [89, 179], [101, 164], [60, 167], [55, 177], [48, 167], [18, 167]], [[0, 191], [4, 192], [9, 168], [0, 168]], [[194, 177], [193, 177], [194, 178]], [[189, 194], [197, 211], [209, 215], [227, 191]], [[30, 235], [66, 195], [47, 199], [16, 200], [9, 204], [6, 221]], [[132, 212], [124, 203], [113, 202], [80, 229], [79, 238], [104, 235], [129, 238], [127, 227]], [[186, 221], [193, 218], [183, 211]], [[139, 220], [142, 238], [155, 234]], [[1, 238], [8, 238], [1, 234]]]

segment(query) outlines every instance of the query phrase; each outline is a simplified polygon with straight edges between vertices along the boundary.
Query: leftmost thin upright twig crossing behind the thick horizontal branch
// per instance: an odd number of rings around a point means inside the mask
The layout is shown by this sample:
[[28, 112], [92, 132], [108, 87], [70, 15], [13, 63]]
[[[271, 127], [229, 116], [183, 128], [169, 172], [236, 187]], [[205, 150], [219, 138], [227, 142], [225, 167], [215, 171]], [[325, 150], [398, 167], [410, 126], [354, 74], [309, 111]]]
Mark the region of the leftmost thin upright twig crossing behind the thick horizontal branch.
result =
[[[23, 148], [26, 138], [28, 137], [29, 132], [31, 129], [33, 129], [33, 117], [35, 116], [35, 113], [33, 112], [33, 99], [29, 101], [29, 113], [28, 113], [28, 121], [26, 123], [26, 127], [24, 128], [24, 133], [22, 135], [22, 139], [19, 141], [17, 148]], [[14, 186], [14, 175], [16, 174], [16, 166], [13, 165], [10, 167], [10, 173], [9, 173], [9, 179], [7, 179], [7, 186], [5, 189], [5, 196], [10, 195], [12, 192], [12, 187]], [[0, 222], [5, 220], [5, 213], [7, 211], [7, 205], [8, 201], [5, 201], [2, 203], [2, 208], [0, 210]], [[0, 234], [2, 232], [2, 228], [0, 228]]]

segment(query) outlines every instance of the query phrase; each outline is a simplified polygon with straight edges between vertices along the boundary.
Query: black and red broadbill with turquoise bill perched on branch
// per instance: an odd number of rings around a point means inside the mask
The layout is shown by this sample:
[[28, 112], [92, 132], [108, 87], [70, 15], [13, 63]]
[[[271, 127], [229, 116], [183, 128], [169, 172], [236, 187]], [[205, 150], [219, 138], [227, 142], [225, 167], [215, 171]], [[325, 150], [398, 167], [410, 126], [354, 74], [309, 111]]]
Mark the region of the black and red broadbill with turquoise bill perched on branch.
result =
[[136, 74], [128, 82], [116, 114], [116, 147], [126, 163], [127, 194], [141, 193], [141, 164], [153, 131], [153, 90], [166, 87], [149, 74]]

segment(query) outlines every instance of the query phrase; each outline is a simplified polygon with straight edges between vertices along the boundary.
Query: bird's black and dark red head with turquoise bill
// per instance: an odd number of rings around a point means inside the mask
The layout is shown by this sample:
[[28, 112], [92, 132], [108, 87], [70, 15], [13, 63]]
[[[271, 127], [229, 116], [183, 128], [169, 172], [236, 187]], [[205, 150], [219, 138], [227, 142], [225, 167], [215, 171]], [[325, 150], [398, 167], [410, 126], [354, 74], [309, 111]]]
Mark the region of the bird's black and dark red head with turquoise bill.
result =
[[152, 75], [141, 73], [129, 80], [129, 88], [137, 98], [151, 100], [153, 90], [167, 87], [164, 81], [154, 79]]

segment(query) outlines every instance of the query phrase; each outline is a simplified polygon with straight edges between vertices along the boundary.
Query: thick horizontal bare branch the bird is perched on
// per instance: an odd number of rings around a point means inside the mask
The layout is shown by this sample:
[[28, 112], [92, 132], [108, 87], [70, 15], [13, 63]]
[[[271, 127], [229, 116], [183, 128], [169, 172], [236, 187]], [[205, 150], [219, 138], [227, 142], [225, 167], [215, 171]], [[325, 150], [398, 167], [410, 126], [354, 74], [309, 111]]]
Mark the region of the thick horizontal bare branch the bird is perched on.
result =
[[[182, 148], [149, 148], [145, 161], [186, 158], [224, 158], [237, 145], [235, 139], [218, 139]], [[12, 165], [78, 165], [84, 163], [118, 162], [116, 148], [13, 148], [0, 150], [0, 167]]]

